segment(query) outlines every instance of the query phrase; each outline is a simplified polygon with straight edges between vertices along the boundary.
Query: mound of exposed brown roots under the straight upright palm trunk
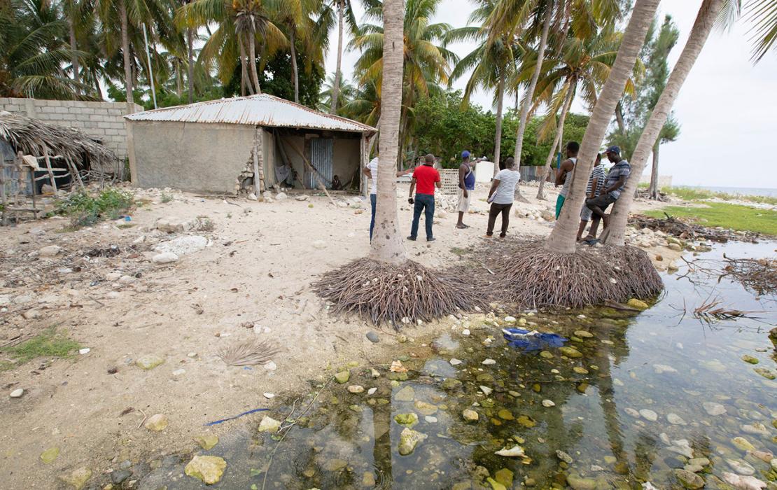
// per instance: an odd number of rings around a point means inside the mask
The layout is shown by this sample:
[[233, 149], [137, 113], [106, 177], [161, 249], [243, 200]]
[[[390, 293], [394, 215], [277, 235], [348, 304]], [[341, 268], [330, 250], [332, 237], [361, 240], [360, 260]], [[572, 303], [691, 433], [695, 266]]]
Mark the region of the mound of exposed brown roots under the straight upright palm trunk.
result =
[[358, 259], [324, 274], [313, 288], [335, 312], [389, 321], [394, 328], [486, 304], [483, 291], [410, 260], [393, 265]]

